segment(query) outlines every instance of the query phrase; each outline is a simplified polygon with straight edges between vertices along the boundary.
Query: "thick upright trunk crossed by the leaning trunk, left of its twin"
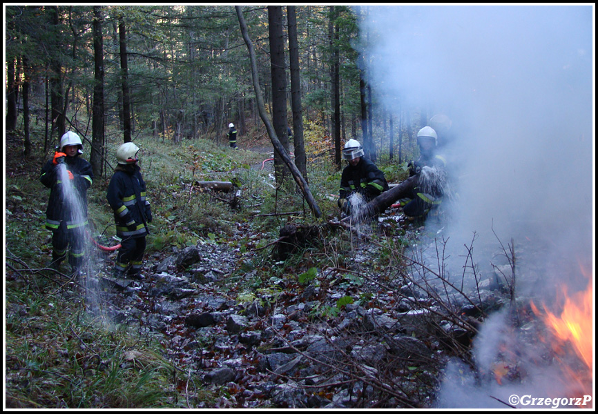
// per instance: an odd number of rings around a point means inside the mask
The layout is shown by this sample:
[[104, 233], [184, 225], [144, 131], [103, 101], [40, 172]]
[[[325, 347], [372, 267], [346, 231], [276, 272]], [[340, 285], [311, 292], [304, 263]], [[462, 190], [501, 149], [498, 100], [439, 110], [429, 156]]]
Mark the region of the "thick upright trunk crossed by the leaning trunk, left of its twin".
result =
[[[268, 31], [272, 75], [272, 124], [280, 144], [289, 152], [287, 126], [287, 73], [284, 70], [284, 34], [282, 33], [282, 6], [268, 6]], [[276, 149], [276, 148], [275, 148]], [[287, 179], [287, 168], [281, 156], [274, 154], [274, 175], [278, 186]]]

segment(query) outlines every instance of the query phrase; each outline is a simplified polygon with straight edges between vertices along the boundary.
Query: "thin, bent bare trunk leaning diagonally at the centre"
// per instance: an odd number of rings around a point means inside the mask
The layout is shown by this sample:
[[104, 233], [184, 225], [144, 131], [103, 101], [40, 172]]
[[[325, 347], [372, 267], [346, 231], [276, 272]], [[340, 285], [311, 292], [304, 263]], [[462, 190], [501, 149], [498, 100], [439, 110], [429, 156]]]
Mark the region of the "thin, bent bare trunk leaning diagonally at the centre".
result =
[[283, 161], [287, 164], [289, 169], [291, 170], [291, 174], [295, 179], [297, 185], [301, 189], [307, 204], [311, 208], [311, 212], [314, 213], [316, 217], [321, 217], [322, 212], [320, 211], [320, 207], [316, 203], [316, 200], [311, 195], [311, 191], [309, 190], [309, 186], [307, 185], [307, 181], [302, 177], [301, 172], [297, 169], [291, 157], [285, 152], [284, 146], [280, 144], [278, 137], [276, 137], [276, 132], [274, 128], [270, 124], [268, 119], [266, 108], [264, 106], [264, 97], [262, 96], [262, 90], [260, 89], [260, 80], [258, 79], [258, 63], [255, 59], [255, 50], [253, 50], [253, 43], [251, 43], [251, 39], [249, 39], [249, 34], [247, 32], [247, 23], [245, 23], [245, 19], [243, 17], [243, 12], [241, 6], [235, 6], [235, 10], [237, 12], [237, 16], [239, 18], [239, 26], [241, 28], [241, 34], [245, 43], [247, 44], [247, 49], [249, 50], [249, 57], [251, 59], [251, 78], [253, 81], [253, 90], [255, 90], [255, 101], [258, 105], [258, 111], [260, 112], [260, 117], [262, 118], [262, 122], [266, 129], [268, 130], [268, 135], [270, 136], [270, 141], [272, 141], [272, 145], [274, 148], [280, 153]]

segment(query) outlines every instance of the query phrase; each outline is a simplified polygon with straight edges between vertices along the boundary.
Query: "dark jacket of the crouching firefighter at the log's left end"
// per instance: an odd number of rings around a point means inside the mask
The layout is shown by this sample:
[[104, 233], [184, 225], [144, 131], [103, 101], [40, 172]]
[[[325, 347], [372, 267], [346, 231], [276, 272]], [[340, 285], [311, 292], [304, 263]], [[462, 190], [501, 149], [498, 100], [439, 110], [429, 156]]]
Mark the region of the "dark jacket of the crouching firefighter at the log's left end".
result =
[[388, 183], [384, 172], [364, 157], [360, 157], [356, 166], [351, 164], [346, 166], [340, 176], [341, 199], [346, 199], [351, 193], [360, 193], [366, 201], [370, 201], [386, 190], [388, 190]]

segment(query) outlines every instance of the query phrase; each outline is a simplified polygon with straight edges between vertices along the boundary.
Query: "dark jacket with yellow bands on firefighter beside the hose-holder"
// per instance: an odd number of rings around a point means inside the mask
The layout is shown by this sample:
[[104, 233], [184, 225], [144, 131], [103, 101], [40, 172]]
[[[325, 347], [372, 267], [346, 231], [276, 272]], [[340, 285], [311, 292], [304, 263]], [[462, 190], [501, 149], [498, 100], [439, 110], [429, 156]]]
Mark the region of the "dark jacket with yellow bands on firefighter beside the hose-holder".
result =
[[144, 237], [152, 215], [146, 199], [146, 184], [137, 164], [117, 166], [108, 184], [108, 204], [114, 210], [116, 235], [121, 238]]

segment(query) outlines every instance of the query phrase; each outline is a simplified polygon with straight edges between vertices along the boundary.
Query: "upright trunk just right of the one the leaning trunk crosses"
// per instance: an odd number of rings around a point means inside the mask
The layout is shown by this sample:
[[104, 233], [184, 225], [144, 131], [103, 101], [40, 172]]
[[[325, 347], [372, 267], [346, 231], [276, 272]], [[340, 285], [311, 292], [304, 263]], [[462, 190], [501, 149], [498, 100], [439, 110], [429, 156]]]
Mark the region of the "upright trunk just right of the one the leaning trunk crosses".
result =
[[291, 71], [291, 110], [293, 111], [293, 144], [295, 165], [307, 182], [307, 157], [303, 142], [303, 112], [301, 108], [301, 79], [299, 72], [299, 44], [297, 41], [297, 16], [295, 6], [287, 6], [289, 23], [289, 62]]

